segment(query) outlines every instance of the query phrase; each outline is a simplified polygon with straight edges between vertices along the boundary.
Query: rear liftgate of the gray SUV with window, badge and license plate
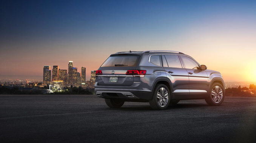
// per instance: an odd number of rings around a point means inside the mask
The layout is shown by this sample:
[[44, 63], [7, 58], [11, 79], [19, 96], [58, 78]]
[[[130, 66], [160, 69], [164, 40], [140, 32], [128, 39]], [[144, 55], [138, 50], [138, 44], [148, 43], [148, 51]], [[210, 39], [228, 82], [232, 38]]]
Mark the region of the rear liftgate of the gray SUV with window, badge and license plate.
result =
[[136, 68], [139, 58], [139, 55], [134, 54], [111, 55], [99, 68], [102, 75], [97, 76], [98, 85], [131, 86], [134, 77], [126, 75], [126, 72]]

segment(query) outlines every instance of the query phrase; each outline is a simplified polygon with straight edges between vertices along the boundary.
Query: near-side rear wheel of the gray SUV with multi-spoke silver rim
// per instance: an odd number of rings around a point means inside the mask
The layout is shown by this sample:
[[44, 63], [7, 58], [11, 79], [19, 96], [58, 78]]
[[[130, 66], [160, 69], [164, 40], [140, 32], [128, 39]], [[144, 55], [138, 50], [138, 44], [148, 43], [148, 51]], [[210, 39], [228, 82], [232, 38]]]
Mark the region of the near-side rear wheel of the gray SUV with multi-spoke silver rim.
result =
[[[166, 92], [168, 95], [166, 95]], [[149, 101], [151, 108], [153, 110], [164, 110], [168, 107], [170, 101], [171, 94], [168, 87], [164, 84], [157, 84], [153, 92], [153, 97]]]

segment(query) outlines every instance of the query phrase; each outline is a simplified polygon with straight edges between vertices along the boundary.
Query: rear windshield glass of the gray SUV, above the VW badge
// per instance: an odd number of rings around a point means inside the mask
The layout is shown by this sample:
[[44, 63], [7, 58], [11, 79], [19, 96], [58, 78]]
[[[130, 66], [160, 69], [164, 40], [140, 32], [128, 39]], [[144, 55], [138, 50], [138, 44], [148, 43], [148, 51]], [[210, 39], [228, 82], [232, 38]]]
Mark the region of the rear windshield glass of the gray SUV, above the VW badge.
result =
[[137, 55], [122, 55], [110, 56], [101, 67], [112, 66], [136, 66], [140, 56]]

